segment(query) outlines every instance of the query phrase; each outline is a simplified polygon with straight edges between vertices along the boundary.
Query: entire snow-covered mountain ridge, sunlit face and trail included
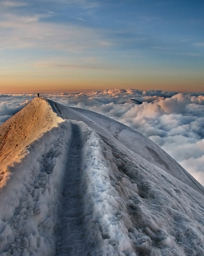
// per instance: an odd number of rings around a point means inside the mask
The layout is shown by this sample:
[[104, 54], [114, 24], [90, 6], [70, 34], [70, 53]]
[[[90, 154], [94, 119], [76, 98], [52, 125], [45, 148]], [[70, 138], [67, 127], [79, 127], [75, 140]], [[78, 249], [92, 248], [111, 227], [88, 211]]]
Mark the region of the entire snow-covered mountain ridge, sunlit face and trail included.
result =
[[204, 255], [204, 188], [138, 132], [43, 98], [0, 131], [0, 256]]

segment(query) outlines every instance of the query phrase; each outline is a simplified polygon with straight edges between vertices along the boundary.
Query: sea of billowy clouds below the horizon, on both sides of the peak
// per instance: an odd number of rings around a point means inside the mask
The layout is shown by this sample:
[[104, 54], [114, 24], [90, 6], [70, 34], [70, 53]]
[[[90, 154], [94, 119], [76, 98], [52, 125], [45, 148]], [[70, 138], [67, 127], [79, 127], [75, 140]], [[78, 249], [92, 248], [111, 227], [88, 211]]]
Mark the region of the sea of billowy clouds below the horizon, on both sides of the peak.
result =
[[[136, 129], [204, 185], [204, 93], [115, 89], [40, 96], [102, 113]], [[0, 94], [0, 124], [34, 97], [34, 94]]]

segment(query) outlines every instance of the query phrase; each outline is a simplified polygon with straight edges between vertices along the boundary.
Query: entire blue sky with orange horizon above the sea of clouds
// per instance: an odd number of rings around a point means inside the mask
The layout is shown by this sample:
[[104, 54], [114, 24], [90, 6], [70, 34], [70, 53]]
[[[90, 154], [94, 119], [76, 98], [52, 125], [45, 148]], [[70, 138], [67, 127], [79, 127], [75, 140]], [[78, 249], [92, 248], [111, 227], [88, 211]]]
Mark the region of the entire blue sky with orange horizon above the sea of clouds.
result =
[[204, 2], [0, 0], [0, 93], [204, 91]]

